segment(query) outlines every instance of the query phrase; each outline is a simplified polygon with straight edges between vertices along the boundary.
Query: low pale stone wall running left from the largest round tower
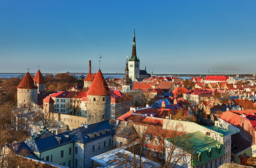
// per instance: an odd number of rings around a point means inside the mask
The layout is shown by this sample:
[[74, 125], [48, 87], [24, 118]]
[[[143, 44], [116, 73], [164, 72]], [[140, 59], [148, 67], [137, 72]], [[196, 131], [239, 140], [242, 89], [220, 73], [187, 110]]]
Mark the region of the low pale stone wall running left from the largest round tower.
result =
[[81, 127], [81, 124], [86, 124], [86, 117], [61, 114], [57, 112], [54, 112], [53, 116], [57, 121], [63, 121], [70, 130]]

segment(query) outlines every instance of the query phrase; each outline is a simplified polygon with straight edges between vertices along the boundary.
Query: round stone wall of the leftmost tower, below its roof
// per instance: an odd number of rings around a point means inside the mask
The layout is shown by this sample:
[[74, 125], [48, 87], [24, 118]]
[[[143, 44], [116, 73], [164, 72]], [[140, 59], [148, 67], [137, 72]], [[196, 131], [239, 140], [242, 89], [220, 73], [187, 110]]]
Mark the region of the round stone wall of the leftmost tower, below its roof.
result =
[[34, 102], [37, 104], [37, 89], [18, 89], [17, 91], [18, 107], [24, 104]]

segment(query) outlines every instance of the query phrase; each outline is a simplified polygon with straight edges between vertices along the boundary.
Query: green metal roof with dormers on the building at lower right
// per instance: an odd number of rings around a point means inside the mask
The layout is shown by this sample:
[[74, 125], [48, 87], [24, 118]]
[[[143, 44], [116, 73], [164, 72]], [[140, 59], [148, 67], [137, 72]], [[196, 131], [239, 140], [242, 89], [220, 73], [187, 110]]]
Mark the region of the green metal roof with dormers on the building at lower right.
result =
[[[200, 131], [184, 134], [179, 137], [166, 140], [170, 143], [176, 141], [174, 144], [177, 147], [191, 154], [191, 166], [197, 167], [225, 155], [225, 150], [222, 143], [219, 143], [215, 139], [206, 136]], [[210, 152], [212, 155], [211, 157]], [[199, 161], [200, 156], [202, 158], [201, 161]]]

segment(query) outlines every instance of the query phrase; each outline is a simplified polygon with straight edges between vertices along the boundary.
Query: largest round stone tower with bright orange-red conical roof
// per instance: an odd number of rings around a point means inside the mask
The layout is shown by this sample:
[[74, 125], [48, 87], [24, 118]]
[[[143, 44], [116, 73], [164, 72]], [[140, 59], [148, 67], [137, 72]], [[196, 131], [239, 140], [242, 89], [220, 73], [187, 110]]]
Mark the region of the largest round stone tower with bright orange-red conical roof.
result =
[[110, 119], [111, 93], [101, 70], [97, 72], [87, 92], [87, 124]]

